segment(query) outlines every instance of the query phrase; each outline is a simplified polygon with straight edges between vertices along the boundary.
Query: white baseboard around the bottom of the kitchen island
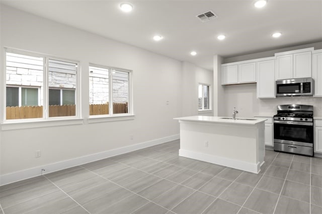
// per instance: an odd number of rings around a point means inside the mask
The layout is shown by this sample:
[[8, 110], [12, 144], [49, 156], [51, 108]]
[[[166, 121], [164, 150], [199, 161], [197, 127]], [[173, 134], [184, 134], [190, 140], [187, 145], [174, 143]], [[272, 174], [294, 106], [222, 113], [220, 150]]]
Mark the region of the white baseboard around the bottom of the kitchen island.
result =
[[192, 152], [192, 151], [183, 150], [183, 149], [179, 150], [179, 156], [201, 160], [209, 163], [219, 164], [222, 166], [227, 166], [227, 167], [240, 169], [240, 170], [253, 172], [253, 173], [259, 173], [261, 169], [261, 164], [262, 164], [260, 162], [258, 162], [257, 164], [252, 164], [245, 161], [238, 161], [230, 158]]

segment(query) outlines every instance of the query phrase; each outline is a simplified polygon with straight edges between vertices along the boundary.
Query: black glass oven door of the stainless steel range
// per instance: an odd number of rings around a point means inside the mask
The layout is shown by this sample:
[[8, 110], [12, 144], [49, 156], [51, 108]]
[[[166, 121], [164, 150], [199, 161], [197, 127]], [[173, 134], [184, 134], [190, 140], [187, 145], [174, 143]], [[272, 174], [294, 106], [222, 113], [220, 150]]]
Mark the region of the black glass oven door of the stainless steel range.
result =
[[285, 143], [291, 144], [293, 144], [292, 142], [313, 144], [313, 125], [306, 126], [274, 122], [274, 140], [282, 140]]

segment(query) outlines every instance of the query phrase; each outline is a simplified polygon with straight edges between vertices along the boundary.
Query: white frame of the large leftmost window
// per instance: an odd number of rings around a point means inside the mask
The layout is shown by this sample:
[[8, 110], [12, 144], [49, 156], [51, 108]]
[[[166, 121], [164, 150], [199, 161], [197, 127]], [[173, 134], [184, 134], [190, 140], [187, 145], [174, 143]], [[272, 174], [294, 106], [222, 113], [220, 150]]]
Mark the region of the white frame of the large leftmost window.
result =
[[[3, 86], [4, 92], [3, 92], [3, 104], [2, 104], [2, 112], [3, 112], [3, 118], [2, 118], [2, 130], [11, 130], [11, 129], [17, 129], [15, 126], [10, 125], [8, 128], [3, 127], [5, 124], [30, 124], [34, 122], [41, 122], [41, 124], [49, 121], [74, 121], [68, 124], [83, 124], [83, 119], [81, 118], [81, 96], [79, 93], [80, 90], [80, 79], [81, 79], [81, 69], [80, 69], [80, 62], [76, 60], [71, 60], [71, 59], [65, 59], [65, 58], [60, 58], [60, 57], [55, 57], [51, 55], [46, 55], [46, 54], [41, 54], [41, 53], [35, 53], [31, 51], [25, 51], [25, 50], [18, 50], [18, 49], [12, 49], [12, 48], [4, 48], [3, 49], [4, 53], [4, 66], [3, 69], [5, 72], [3, 72]], [[14, 53], [14, 54], [20, 54], [20, 55], [26, 55], [26, 56], [31, 56], [31, 57], [38, 57], [38, 58], [43, 58], [43, 89], [41, 91], [41, 86], [28, 86], [28, 87], [34, 87], [34, 88], [39, 88], [38, 89], [38, 102], [40, 105], [41, 98], [43, 99], [43, 117], [42, 118], [28, 118], [28, 119], [10, 119], [7, 120], [6, 118], [6, 103], [7, 103], [7, 86], [12, 87], [26, 87], [24, 85], [13, 85], [13, 84], [8, 84], [7, 85], [7, 53]], [[65, 61], [65, 62], [70, 62], [70, 63], [75, 63], [76, 65], [76, 87], [75, 87], [75, 116], [63, 116], [63, 117], [49, 117], [49, 59], [52, 60], [60, 60], [60, 61]], [[61, 88], [62, 89], [62, 88]], [[20, 96], [20, 95], [19, 95]], [[42, 97], [41, 97], [42, 96]], [[19, 101], [20, 103], [20, 101]], [[79, 120], [81, 119], [81, 120]], [[81, 123], [82, 121], [82, 123]], [[64, 123], [56, 123], [56, 124], [62, 124]], [[48, 125], [52, 126], [52, 125]], [[33, 126], [28, 126], [28, 125], [23, 125], [21, 127], [18, 127], [18, 129], [22, 128], [34, 128], [34, 127], [43, 127], [43, 125], [33, 125]]]

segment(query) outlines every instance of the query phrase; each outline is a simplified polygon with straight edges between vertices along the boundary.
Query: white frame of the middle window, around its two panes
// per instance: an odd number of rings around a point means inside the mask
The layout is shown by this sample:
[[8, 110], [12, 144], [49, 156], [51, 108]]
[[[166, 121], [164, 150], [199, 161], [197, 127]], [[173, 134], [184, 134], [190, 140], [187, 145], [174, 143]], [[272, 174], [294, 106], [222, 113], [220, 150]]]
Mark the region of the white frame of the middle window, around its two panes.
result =
[[[132, 70], [125, 68], [117, 68], [112, 66], [99, 65], [94, 63], [89, 63], [89, 67], [97, 67], [109, 70], [109, 103], [113, 103], [113, 70], [127, 72], [128, 73], [128, 113], [124, 114], [114, 114], [113, 113], [113, 104], [109, 105], [109, 114], [108, 115], [90, 115], [89, 113], [89, 123], [97, 123], [97, 122], [106, 122], [106, 121], [117, 121], [117, 120], [132, 120], [134, 117], [133, 113], [133, 86], [132, 86]], [[89, 69], [89, 77], [90, 77], [90, 69]], [[90, 83], [90, 78], [89, 78]], [[90, 88], [90, 87], [89, 87]], [[90, 94], [90, 90], [88, 91]], [[89, 100], [90, 105], [90, 100]], [[96, 119], [96, 120], [93, 120]], [[103, 119], [103, 120], [102, 120]], [[108, 119], [108, 120], [104, 120]], [[91, 121], [91, 122], [90, 122]]]

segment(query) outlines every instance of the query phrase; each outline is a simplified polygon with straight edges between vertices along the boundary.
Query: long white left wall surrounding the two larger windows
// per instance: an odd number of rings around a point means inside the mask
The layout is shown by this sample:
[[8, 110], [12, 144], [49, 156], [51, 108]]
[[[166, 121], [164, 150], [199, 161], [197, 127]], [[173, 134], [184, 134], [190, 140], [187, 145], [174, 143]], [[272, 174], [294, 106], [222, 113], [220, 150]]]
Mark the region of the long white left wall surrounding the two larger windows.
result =
[[[0, 131], [0, 175], [179, 134], [178, 121], [173, 118], [181, 117], [183, 109], [180, 61], [7, 6], [2, 6], [0, 14], [0, 62], [4, 47], [80, 62], [84, 118], [83, 125]], [[133, 70], [134, 120], [88, 123], [89, 63]], [[3, 77], [0, 88], [4, 88]], [[34, 157], [36, 150], [41, 150], [40, 158]]]

